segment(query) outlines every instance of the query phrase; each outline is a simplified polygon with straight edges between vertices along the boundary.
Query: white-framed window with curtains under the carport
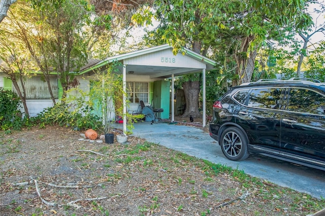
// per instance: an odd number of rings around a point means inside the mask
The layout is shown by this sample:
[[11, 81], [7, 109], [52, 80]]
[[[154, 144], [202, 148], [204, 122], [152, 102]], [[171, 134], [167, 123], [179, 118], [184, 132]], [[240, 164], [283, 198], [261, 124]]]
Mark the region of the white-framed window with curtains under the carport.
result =
[[126, 82], [127, 99], [131, 103], [140, 103], [140, 100], [148, 103], [149, 101], [149, 83]]

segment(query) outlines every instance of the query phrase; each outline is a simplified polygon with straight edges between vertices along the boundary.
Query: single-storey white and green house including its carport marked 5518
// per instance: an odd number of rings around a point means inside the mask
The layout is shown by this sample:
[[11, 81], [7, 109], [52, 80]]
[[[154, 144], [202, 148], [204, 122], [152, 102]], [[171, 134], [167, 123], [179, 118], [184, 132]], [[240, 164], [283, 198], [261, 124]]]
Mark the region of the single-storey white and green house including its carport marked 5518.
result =
[[[140, 100], [143, 100], [145, 105], [164, 109], [164, 112], [161, 113], [161, 118], [168, 119], [170, 115], [170, 101], [173, 101], [171, 98], [174, 98], [174, 77], [200, 72], [203, 73], [203, 117], [205, 117], [205, 73], [214, 68], [215, 62], [213, 60], [186, 48], [183, 48], [181, 52], [174, 55], [171, 46], [160, 45], [108, 57], [87, 65], [78, 73], [79, 88], [89, 89], [89, 83], [93, 78], [94, 71], [99, 69], [105, 71], [107, 65], [112, 61], [119, 61], [121, 63], [118, 66], [117, 72], [114, 73], [123, 75], [123, 89], [127, 92], [127, 99], [130, 101], [129, 110], [126, 110], [124, 104], [124, 112], [137, 111]], [[171, 78], [171, 82], [167, 81], [167, 78]], [[38, 76], [33, 77], [31, 81], [35, 81], [38, 85], [41, 84], [40, 77]], [[30, 81], [28, 80], [28, 82]], [[56, 99], [59, 99], [57, 77], [52, 77], [52, 83], [52, 90], [57, 92]], [[8, 79], [3, 74], [0, 74], [0, 87], [4, 86], [12, 88]], [[47, 90], [43, 87], [38, 87], [34, 95], [28, 96], [27, 105], [31, 116], [37, 115], [45, 107], [52, 105], [52, 101], [46, 98], [46, 93], [43, 91]], [[170, 96], [170, 92], [172, 96]], [[174, 121], [174, 103], [171, 103], [171, 107], [172, 121]], [[203, 121], [203, 126], [205, 126], [205, 118], [203, 118]], [[126, 121], [123, 122], [126, 124]], [[123, 125], [123, 128], [126, 131], [126, 125]]]

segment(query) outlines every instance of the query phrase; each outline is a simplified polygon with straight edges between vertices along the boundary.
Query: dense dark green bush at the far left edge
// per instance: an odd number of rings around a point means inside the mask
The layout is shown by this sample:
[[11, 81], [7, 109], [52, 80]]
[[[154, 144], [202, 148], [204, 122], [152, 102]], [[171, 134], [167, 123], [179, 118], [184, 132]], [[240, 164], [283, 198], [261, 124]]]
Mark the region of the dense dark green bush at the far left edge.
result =
[[23, 125], [21, 106], [18, 95], [0, 88], [0, 127], [2, 130], [19, 130]]

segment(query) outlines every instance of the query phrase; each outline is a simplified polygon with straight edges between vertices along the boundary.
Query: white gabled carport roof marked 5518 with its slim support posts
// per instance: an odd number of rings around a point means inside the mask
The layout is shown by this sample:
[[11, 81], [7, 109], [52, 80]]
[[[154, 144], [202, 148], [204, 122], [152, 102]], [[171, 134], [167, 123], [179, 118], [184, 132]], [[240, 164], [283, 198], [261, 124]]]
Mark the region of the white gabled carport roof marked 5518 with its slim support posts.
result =
[[[167, 44], [152, 48], [138, 50], [117, 56], [108, 57], [96, 62], [80, 71], [80, 74], [91, 73], [95, 69], [105, 70], [113, 61], [119, 61], [121, 65], [118, 72], [123, 75], [123, 90], [126, 90], [126, 76], [132, 74], [146, 75], [150, 78], [172, 79], [172, 121], [174, 121], [174, 77], [201, 73], [203, 74], [203, 126], [206, 125], [206, 71], [214, 69], [215, 61], [183, 48], [177, 55], [173, 54], [173, 48]], [[123, 113], [126, 113], [126, 98], [123, 96]], [[123, 117], [123, 133], [126, 132], [126, 116]]]

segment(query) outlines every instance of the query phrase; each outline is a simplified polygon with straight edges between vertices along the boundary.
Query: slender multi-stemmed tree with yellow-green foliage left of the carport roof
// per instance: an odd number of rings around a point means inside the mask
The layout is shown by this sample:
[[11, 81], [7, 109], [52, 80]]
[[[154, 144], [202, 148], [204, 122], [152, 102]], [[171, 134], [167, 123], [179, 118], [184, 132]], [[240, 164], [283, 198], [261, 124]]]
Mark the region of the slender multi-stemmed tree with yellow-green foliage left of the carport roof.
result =
[[89, 7], [86, 1], [38, 1], [34, 5], [40, 16], [39, 23], [49, 27], [46, 58], [60, 78], [65, 92], [76, 84], [74, 71], [78, 71], [87, 61], [87, 47], [81, 37], [82, 28], [89, 20]]

